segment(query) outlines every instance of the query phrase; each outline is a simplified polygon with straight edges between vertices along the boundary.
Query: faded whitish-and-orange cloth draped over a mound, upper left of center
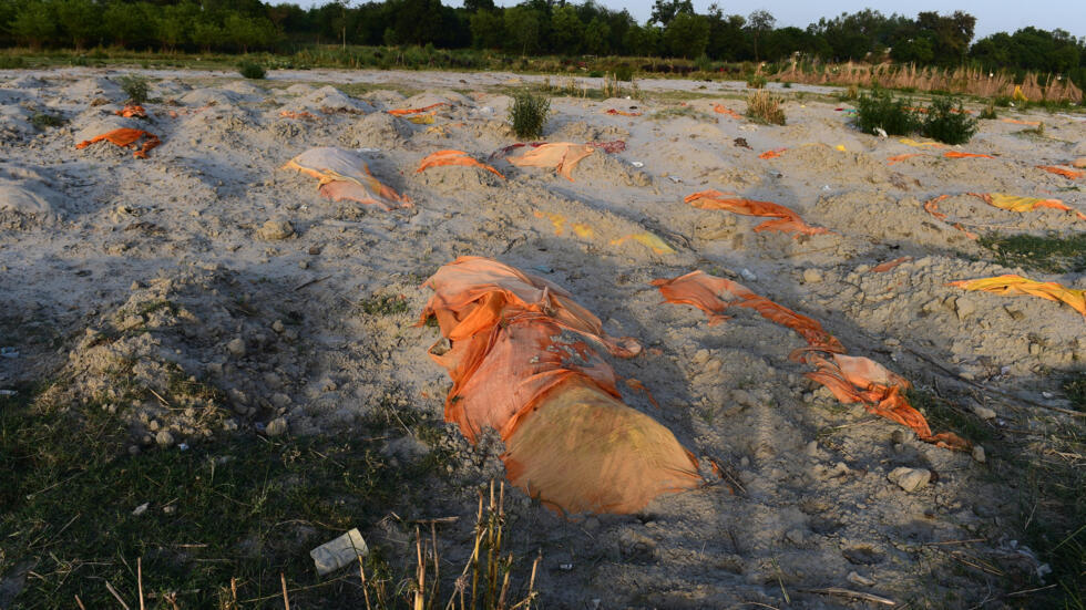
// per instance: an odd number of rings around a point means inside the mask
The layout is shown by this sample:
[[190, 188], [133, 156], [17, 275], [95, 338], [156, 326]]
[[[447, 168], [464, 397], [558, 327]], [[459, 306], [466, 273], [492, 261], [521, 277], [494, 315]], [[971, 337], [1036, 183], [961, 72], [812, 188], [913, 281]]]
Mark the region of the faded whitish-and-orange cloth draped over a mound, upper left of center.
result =
[[370, 174], [366, 162], [350, 151], [310, 148], [288, 161], [283, 168], [317, 178], [320, 195], [335, 201], [358, 201], [386, 210], [411, 207], [410, 199], [381, 184]]

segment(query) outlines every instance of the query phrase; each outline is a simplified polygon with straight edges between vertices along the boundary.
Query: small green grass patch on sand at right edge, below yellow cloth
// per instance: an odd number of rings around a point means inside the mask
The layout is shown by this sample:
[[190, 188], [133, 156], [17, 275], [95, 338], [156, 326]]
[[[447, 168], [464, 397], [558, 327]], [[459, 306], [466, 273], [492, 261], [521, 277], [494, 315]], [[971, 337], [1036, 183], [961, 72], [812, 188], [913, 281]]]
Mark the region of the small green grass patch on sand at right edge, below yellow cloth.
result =
[[1049, 235], [982, 236], [977, 241], [995, 255], [995, 260], [1006, 267], [1024, 267], [1052, 273], [1086, 271], [1086, 234], [1067, 237]]

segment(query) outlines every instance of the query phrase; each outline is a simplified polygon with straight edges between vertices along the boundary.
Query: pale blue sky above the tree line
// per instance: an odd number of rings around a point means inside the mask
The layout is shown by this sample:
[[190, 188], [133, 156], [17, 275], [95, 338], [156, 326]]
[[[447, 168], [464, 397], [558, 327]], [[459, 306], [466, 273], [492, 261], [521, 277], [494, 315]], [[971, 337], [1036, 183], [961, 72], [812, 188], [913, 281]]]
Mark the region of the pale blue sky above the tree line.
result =
[[[310, 0], [313, 2], [314, 0]], [[460, 0], [442, 0], [444, 4], [460, 7]], [[581, 0], [576, 0], [580, 3]], [[324, 0], [316, 0], [324, 3]], [[496, 4], [512, 7], [520, 0], [496, 0]], [[616, 0], [596, 0], [613, 10], [625, 8], [638, 22], [644, 23], [653, 11], [653, 0], [634, 0], [618, 2]], [[694, 9], [704, 13], [713, 0], [694, 0]], [[1013, 33], [1020, 28], [1033, 25], [1042, 30], [1066, 30], [1074, 37], [1086, 37], [1086, 1], [1084, 0], [1048, 0], [1043, 4], [1029, 4], [1021, 0], [956, 0], [946, 2], [940, 0], [913, 0], [911, 2], [892, 2], [890, 0], [837, 0], [834, 2], [811, 2], [810, 0], [754, 0], [742, 4], [718, 0], [726, 14], [750, 14], [758, 9], [765, 9], [777, 18], [777, 27], [796, 25], [806, 28], [823, 17], [837, 17], [842, 12], [857, 12], [870, 8], [885, 15], [891, 13], [916, 17], [923, 11], [935, 11], [950, 14], [955, 10], [965, 11], [976, 18], [974, 40], [995, 32]], [[1038, 10], [1031, 10], [1036, 8]]]

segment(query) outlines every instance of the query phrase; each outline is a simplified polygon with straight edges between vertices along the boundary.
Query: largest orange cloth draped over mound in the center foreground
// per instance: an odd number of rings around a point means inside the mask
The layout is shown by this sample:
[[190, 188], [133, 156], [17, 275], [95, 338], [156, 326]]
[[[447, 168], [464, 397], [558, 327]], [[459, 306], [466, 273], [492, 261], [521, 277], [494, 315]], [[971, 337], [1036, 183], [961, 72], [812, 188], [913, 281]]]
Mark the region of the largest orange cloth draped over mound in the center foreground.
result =
[[619, 356], [641, 351], [606, 335], [568, 292], [480, 257], [441, 267], [426, 286], [434, 294], [422, 318], [437, 318], [451, 344], [430, 349], [453, 382], [445, 421], [472, 443], [496, 430], [514, 485], [565, 513], [627, 514], [704, 483], [670, 431], [621, 401], [612, 368], [563, 333]]

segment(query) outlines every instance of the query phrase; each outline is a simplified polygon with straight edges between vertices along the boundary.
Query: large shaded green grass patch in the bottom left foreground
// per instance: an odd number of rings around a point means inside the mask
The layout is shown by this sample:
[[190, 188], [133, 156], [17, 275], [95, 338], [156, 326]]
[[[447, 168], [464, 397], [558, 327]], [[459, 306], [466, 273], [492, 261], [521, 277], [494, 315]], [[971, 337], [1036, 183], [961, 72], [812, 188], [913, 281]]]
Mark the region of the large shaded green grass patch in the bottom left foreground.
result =
[[[130, 455], [126, 430], [100, 405], [43, 406], [35, 389], [19, 391], [0, 397], [0, 576], [32, 572], [13, 608], [74, 608], [75, 596], [117, 608], [106, 582], [136, 608], [137, 559], [148, 608], [172, 608], [172, 596], [183, 608], [283, 608], [280, 572], [293, 606], [361, 607], [357, 570], [318, 579], [309, 549], [390, 510], [419, 517], [412, 489], [426, 490], [420, 479], [442, 459], [391, 466], [370, 440], [379, 409], [349, 435], [237, 434]], [[392, 579], [381, 557], [368, 558], [370, 578]]]

